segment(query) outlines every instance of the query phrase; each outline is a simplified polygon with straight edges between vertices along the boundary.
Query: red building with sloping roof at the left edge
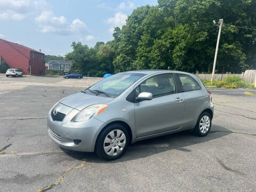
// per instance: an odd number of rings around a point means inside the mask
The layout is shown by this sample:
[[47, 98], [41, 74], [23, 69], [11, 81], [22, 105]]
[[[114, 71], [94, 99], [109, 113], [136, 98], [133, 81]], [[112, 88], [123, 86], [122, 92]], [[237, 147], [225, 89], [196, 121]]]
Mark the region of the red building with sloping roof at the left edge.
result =
[[45, 74], [44, 53], [29, 47], [0, 39], [0, 58], [10, 68], [21, 68], [23, 74]]

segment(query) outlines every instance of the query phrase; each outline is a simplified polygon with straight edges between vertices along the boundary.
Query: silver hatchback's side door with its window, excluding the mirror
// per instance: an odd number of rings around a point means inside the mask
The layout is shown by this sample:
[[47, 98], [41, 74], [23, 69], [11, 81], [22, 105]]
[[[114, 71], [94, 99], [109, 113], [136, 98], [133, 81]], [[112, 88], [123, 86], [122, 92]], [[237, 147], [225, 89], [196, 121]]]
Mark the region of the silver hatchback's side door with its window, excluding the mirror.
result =
[[135, 88], [135, 97], [141, 92], [152, 93], [153, 99], [135, 102], [137, 138], [180, 129], [185, 102], [177, 92], [173, 74], [149, 77]]

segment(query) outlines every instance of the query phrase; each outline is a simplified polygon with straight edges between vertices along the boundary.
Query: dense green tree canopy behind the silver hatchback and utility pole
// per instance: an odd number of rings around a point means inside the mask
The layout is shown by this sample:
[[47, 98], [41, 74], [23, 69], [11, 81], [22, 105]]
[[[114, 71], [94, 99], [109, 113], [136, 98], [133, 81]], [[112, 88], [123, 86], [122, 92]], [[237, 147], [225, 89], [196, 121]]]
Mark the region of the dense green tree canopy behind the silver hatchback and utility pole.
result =
[[73, 60], [72, 69], [92, 76], [168, 67], [210, 73], [219, 31], [212, 21], [223, 19], [216, 69], [241, 73], [256, 68], [256, 30], [235, 26], [255, 29], [255, 10], [252, 0], [158, 0], [134, 9], [106, 44], [73, 42], [66, 59]]

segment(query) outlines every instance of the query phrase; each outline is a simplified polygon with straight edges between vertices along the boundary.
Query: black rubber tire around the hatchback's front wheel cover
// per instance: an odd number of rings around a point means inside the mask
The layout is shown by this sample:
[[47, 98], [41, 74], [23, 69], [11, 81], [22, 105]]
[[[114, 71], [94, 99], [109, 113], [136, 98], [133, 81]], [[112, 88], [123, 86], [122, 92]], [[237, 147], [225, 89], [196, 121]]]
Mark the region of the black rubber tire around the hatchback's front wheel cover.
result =
[[[126, 141], [125, 141], [125, 146], [123, 147], [121, 152], [117, 155], [111, 156], [111, 155], [108, 155], [105, 152], [103, 146], [105, 145], [104, 140], [107, 137], [107, 135], [111, 131], [114, 131], [114, 130], [121, 130], [125, 135]], [[111, 160], [114, 160], [114, 159], [117, 159], [117, 158], [121, 157], [125, 153], [128, 145], [129, 145], [129, 142], [130, 142], [130, 137], [129, 137], [129, 132], [127, 131], [127, 129], [121, 124], [112, 124], [112, 125], [109, 125], [109, 126], [105, 127], [105, 129], [98, 136], [97, 143], [96, 143], [96, 146], [95, 146], [95, 152], [97, 153], [97, 155], [100, 158], [105, 159], [107, 161], [111, 161]]]

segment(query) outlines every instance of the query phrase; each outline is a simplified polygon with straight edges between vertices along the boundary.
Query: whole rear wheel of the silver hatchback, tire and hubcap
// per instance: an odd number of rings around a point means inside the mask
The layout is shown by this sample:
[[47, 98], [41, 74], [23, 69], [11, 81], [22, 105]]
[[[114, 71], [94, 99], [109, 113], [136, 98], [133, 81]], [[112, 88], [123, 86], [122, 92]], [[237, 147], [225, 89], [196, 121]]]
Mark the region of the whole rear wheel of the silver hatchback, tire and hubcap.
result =
[[196, 126], [194, 128], [194, 133], [198, 137], [204, 137], [209, 133], [211, 126], [212, 118], [210, 114], [207, 112], [203, 112], [197, 120]]

